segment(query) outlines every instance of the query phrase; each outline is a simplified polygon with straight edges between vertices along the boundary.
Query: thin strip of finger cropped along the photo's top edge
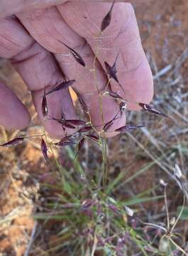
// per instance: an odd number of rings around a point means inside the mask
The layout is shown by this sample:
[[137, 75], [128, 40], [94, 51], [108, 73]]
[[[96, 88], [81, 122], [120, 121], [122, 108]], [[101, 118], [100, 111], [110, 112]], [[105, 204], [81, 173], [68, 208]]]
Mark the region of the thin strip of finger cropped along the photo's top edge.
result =
[[[58, 4], [64, 4], [67, 0], [1, 0], [0, 1], [0, 18], [16, 14], [20, 11], [28, 11], [31, 9], [46, 8], [48, 6], [55, 6]], [[72, 0], [73, 2], [84, 0]], [[114, 0], [91, 0], [94, 2], [112, 2]], [[143, 1], [151, 0], [116, 0], [116, 2], [131, 2], [140, 3]]]

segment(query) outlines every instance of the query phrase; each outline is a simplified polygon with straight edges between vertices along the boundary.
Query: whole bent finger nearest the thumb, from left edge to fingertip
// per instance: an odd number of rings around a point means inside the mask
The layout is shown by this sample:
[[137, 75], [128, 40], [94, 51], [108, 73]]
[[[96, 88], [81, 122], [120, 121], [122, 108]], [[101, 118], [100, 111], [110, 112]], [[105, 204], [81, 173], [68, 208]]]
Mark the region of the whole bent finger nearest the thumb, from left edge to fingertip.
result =
[[[62, 79], [62, 73], [52, 54], [45, 50], [38, 43], [33, 41], [27, 31], [15, 18], [6, 18], [0, 22], [0, 55], [10, 58], [13, 66], [26, 82], [28, 89], [33, 94], [33, 101], [38, 110], [40, 120], [45, 124], [46, 130], [53, 137], [62, 137], [63, 131], [60, 124], [46, 120], [41, 113], [41, 102], [43, 89], [55, 86]], [[4, 98], [5, 100], [5, 98]], [[48, 97], [48, 114], [55, 118], [60, 118], [61, 111], [67, 111], [67, 116], [74, 116], [74, 108], [70, 94], [64, 90]], [[16, 112], [16, 107], [14, 107]], [[21, 115], [21, 107], [18, 108]], [[22, 115], [21, 115], [22, 116]], [[25, 118], [24, 115], [22, 117]], [[25, 121], [26, 122], [26, 121]], [[20, 122], [16, 122], [15, 127], [20, 127]]]

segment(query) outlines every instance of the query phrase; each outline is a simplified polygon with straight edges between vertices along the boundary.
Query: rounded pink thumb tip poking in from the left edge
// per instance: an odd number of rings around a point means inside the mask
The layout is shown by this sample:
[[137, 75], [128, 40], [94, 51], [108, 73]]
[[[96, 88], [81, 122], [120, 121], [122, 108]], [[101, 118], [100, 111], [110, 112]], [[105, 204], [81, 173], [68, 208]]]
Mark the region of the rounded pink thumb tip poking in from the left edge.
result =
[[6, 129], [23, 129], [30, 122], [26, 107], [16, 95], [0, 81], [0, 124]]

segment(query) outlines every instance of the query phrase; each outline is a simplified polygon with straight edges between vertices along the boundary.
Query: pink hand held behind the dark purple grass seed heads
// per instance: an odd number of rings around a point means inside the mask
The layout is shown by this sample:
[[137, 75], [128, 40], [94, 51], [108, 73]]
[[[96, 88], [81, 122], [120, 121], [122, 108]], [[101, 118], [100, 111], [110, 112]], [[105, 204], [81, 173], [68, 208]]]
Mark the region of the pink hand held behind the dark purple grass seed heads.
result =
[[[126, 95], [111, 80], [114, 92], [131, 102], [128, 104], [130, 110], [139, 110], [134, 102], [149, 103], [153, 98], [153, 77], [140, 43], [131, 4], [116, 1], [111, 24], [100, 34], [101, 21], [111, 7], [110, 2], [0, 0], [0, 56], [9, 59], [26, 82], [40, 120], [52, 137], [60, 138], [63, 132], [60, 124], [43, 118], [44, 87], [48, 92], [62, 80], [63, 74], [69, 80], [77, 80], [73, 88], [87, 102], [93, 124], [99, 126], [102, 118], [96, 84], [101, 92], [105, 91], [104, 61], [113, 65], [118, 52], [118, 80]], [[74, 60], [62, 42], [82, 56], [87, 68]], [[89, 72], [94, 68], [94, 61], [95, 73]], [[64, 112], [66, 119], [77, 118], [68, 90], [52, 93], [47, 96], [47, 101], [50, 117], [60, 118]], [[106, 123], [118, 112], [118, 105], [111, 97], [105, 96], [102, 103]], [[23, 129], [29, 122], [26, 107], [0, 82], [0, 124], [6, 129]], [[125, 123], [123, 114], [111, 130]], [[107, 134], [108, 137], [114, 135], [114, 132]]]

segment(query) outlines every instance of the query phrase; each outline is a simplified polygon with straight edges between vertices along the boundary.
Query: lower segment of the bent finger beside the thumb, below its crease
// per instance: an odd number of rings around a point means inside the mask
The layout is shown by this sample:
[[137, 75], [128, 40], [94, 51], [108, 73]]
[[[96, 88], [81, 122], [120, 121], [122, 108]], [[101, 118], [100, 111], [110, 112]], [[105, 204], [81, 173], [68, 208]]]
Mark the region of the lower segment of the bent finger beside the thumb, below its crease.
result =
[[35, 109], [38, 112], [40, 122], [46, 131], [52, 136], [61, 138], [64, 136], [62, 126], [48, 118], [60, 119], [62, 113], [67, 119], [75, 117], [74, 106], [68, 90], [61, 90], [47, 96], [48, 117], [43, 117], [42, 100], [44, 88], [48, 92], [62, 80], [62, 73], [54, 57], [38, 43], [34, 43], [26, 52], [19, 53], [12, 58], [13, 67], [21, 74], [24, 82], [31, 90]]

